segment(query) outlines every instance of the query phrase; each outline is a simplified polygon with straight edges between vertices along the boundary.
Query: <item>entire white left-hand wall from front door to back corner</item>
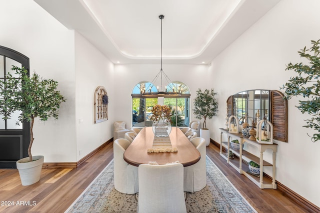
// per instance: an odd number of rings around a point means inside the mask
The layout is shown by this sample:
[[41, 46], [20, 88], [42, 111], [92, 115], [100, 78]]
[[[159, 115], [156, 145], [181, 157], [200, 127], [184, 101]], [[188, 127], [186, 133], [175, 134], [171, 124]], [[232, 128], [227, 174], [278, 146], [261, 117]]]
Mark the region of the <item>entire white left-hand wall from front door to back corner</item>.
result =
[[[113, 64], [33, 0], [0, 0], [0, 5], [0, 45], [29, 57], [30, 70], [57, 80], [66, 98], [58, 120], [44, 125], [35, 120], [32, 154], [44, 155], [44, 162], [76, 162], [112, 137]], [[111, 104], [109, 119], [94, 124], [93, 95], [99, 85]]]

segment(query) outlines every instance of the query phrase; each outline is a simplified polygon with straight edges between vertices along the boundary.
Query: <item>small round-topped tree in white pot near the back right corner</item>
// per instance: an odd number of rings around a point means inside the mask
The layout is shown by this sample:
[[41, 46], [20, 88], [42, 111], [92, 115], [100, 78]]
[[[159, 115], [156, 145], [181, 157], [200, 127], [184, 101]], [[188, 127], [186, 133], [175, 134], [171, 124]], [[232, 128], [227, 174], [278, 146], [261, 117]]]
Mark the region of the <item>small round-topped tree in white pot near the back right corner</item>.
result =
[[211, 119], [216, 115], [218, 102], [215, 99], [217, 93], [211, 88], [202, 91], [200, 88], [196, 91], [196, 97], [193, 100], [193, 114], [197, 119], [204, 119], [202, 128], [200, 128], [200, 137], [205, 139], [205, 144], [210, 144], [210, 132], [206, 128], [206, 119]]

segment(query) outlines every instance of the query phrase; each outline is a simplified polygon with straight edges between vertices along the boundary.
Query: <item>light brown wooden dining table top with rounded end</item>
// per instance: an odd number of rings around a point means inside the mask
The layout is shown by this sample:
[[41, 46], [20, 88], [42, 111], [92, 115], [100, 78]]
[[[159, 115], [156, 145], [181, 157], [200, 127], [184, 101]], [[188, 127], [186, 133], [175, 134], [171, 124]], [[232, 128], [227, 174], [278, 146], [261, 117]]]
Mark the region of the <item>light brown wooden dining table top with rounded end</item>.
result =
[[152, 148], [153, 138], [151, 126], [142, 128], [124, 151], [123, 159], [134, 166], [153, 161], [158, 164], [178, 161], [183, 166], [189, 166], [200, 160], [200, 152], [177, 127], [171, 127], [169, 134], [171, 145], [177, 148], [177, 152], [148, 153], [147, 149]]

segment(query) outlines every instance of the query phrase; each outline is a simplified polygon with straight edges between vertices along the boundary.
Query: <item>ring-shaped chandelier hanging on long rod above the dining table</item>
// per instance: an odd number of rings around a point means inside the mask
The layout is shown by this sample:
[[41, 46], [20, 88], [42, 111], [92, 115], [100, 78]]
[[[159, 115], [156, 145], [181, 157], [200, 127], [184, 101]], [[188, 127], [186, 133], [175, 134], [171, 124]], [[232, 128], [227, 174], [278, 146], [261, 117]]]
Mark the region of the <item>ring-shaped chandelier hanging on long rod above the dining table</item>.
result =
[[[140, 93], [142, 96], [150, 96], [150, 97], [164, 97], [164, 96], [170, 96], [170, 97], [175, 97], [175, 96], [180, 96], [182, 94], [182, 88], [180, 88], [177, 85], [177, 82], [175, 86], [172, 86], [173, 84], [169, 77], [165, 74], [165, 72], [162, 70], [162, 19], [164, 18], [164, 15], [159, 15], [159, 19], [161, 20], [161, 27], [160, 27], [160, 35], [161, 35], [161, 68], [160, 71], [155, 75], [153, 80], [151, 81], [150, 85], [145, 88], [142, 87], [140, 89]], [[151, 91], [152, 87], [155, 85], [155, 82], [157, 81], [158, 77], [160, 77], [160, 89], [159, 86], [156, 87], [156, 91]], [[163, 84], [162, 84], [162, 78], [167, 81], [167, 85], [163, 89]]]

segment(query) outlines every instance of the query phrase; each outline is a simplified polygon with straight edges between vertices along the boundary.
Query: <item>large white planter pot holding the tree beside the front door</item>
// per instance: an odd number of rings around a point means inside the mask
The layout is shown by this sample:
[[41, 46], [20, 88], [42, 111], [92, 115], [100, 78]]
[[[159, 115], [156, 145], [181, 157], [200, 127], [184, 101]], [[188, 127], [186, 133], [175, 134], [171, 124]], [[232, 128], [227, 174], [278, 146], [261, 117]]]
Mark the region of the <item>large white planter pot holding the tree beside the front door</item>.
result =
[[32, 156], [31, 162], [28, 162], [29, 157], [24, 157], [16, 161], [16, 168], [19, 171], [22, 185], [31, 185], [39, 181], [43, 159], [44, 157], [42, 155], [37, 155]]

